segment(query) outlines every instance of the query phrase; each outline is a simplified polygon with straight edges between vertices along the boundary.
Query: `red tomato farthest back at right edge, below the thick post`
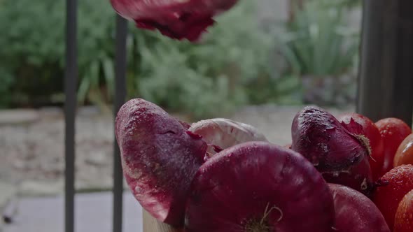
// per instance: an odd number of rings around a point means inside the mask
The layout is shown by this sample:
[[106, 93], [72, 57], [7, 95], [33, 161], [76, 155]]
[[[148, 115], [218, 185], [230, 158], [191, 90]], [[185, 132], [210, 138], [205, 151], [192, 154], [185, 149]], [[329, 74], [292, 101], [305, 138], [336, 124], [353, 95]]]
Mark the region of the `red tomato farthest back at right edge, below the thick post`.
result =
[[376, 126], [380, 131], [384, 144], [383, 157], [376, 160], [377, 164], [381, 166], [377, 171], [377, 175], [380, 177], [393, 168], [395, 152], [398, 150], [402, 140], [412, 133], [412, 129], [405, 122], [394, 117], [381, 119], [379, 122], [376, 122]]

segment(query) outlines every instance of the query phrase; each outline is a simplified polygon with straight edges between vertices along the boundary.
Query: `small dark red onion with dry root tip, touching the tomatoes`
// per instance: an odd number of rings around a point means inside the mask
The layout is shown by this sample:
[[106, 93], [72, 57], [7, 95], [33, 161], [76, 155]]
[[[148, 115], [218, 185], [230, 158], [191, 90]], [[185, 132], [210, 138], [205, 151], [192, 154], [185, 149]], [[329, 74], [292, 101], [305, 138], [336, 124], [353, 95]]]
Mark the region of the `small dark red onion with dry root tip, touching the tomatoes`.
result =
[[370, 155], [364, 136], [351, 133], [327, 111], [313, 106], [301, 110], [291, 127], [292, 149], [321, 173], [348, 171]]

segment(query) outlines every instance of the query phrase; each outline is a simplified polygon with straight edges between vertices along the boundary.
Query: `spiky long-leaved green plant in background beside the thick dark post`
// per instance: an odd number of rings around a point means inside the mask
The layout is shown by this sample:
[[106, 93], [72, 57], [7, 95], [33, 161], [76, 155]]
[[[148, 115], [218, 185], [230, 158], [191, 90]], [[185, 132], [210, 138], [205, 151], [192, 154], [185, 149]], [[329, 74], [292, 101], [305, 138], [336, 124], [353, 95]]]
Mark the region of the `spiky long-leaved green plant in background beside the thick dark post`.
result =
[[340, 75], [353, 65], [358, 31], [346, 25], [344, 11], [326, 1], [306, 1], [281, 34], [283, 55], [299, 75]]

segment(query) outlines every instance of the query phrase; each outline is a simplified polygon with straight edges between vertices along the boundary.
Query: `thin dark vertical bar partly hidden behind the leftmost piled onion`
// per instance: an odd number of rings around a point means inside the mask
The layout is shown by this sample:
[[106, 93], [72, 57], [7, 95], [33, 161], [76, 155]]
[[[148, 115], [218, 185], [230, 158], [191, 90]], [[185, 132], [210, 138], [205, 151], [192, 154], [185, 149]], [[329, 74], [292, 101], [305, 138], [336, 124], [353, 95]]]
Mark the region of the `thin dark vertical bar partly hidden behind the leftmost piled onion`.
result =
[[[116, 114], [126, 99], [126, 38], [127, 21], [116, 17], [116, 96], [113, 112]], [[113, 154], [113, 232], [122, 231], [123, 221], [123, 173], [120, 151], [115, 140]]]

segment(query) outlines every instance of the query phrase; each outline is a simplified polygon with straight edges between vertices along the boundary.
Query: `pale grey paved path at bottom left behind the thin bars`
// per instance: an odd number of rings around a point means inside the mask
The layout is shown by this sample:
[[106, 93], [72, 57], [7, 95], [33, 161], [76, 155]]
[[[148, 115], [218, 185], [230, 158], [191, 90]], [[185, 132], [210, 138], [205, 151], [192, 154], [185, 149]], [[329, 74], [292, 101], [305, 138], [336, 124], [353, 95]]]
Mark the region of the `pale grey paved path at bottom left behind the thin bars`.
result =
[[[112, 194], [109, 192], [76, 195], [76, 232], [112, 231]], [[18, 215], [3, 232], [63, 232], [64, 198], [24, 198]], [[123, 232], [142, 232], [142, 210], [128, 192], [124, 194]]]

